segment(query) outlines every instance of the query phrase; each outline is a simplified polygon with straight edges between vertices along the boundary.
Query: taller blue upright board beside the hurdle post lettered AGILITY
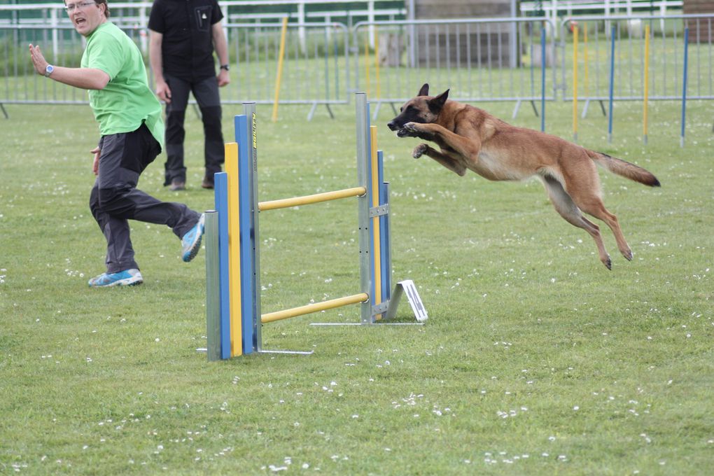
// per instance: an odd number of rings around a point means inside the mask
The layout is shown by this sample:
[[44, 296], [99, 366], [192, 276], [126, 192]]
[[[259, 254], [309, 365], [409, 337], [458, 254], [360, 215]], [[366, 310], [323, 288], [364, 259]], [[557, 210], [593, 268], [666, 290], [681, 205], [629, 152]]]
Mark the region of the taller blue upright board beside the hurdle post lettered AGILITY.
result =
[[253, 166], [251, 146], [248, 141], [248, 119], [245, 114], [235, 117], [236, 143], [238, 143], [238, 200], [240, 203], [240, 235], [241, 235], [241, 339], [243, 354], [253, 352], [253, 326], [260, 319], [253, 313], [253, 289], [255, 286], [255, 249], [253, 240], [253, 211], [251, 201], [253, 188], [250, 180], [250, 169]]

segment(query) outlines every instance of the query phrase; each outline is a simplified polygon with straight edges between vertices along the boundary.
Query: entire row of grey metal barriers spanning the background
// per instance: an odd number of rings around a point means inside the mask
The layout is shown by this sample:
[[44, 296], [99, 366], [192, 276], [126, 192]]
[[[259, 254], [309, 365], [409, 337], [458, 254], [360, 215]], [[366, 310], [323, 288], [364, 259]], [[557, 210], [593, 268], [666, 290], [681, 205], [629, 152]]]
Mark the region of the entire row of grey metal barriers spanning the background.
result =
[[[316, 106], [325, 104], [329, 111], [331, 104], [347, 103], [351, 93], [363, 90], [377, 113], [381, 104], [402, 103], [429, 82], [433, 88], [451, 88], [450, 97], [461, 101], [513, 101], [515, 116], [524, 101], [535, 113], [538, 101], [541, 108], [556, 98], [572, 101], [578, 76], [586, 113], [590, 101], [610, 96], [610, 86], [615, 101], [642, 100], [645, 75], [650, 100], [680, 99], [685, 79], [688, 98], [711, 99], [713, 23], [709, 14], [580, 16], [557, 27], [543, 18], [369, 21], [351, 28], [288, 24], [279, 102], [312, 105], [311, 117]], [[573, 49], [575, 24], [579, 35]], [[136, 44], [146, 41], [144, 27], [119, 26]], [[234, 67], [231, 84], [221, 89], [223, 102], [273, 103], [282, 24], [225, 26]], [[82, 91], [34, 74], [30, 43], [63, 66], [79, 66], [84, 49], [84, 39], [70, 25], [0, 25], [0, 106], [86, 103]], [[645, 43], [650, 47], [646, 68]]]

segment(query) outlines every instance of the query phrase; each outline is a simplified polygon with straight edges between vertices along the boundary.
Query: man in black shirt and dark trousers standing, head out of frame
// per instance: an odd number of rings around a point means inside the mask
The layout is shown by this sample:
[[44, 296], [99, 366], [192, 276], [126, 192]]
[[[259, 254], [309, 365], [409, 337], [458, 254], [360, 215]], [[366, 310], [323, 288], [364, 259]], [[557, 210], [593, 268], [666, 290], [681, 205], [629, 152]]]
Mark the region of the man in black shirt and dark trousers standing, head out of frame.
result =
[[[223, 163], [221, 98], [218, 88], [230, 82], [228, 45], [216, 0], [154, 0], [149, 16], [149, 58], [156, 95], [166, 103], [166, 164], [164, 186], [186, 188], [183, 139], [188, 93], [201, 108], [206, 174], [203, 188], [213, 188], [213, 174]], [[216, 76], [213, 51], [221, 69]]]

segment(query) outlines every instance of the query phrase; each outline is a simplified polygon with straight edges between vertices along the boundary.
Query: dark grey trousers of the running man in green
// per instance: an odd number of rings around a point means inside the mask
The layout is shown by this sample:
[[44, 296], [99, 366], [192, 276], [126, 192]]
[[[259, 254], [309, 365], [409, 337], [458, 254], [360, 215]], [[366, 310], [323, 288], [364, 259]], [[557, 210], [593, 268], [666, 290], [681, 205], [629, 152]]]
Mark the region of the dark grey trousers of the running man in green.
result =
[[196, 225], [200, 214], [183, 203], [162, 202], [136, 189], [141, 172], [161, 152], [144, 124], [134, 132], [102, 136], [99, 148], [99, 174], [89, 208], [106, 238], [106, 272], [138, 269], [128, 220], [169, 226], [181, 238]]

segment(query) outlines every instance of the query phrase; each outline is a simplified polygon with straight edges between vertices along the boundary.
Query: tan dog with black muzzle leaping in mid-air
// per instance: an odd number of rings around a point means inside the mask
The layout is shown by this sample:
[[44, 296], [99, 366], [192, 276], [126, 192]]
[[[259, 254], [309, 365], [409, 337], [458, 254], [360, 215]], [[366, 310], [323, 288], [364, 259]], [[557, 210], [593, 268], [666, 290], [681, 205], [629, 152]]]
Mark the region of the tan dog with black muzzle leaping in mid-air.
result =
[[491, 181], [537, 176], [560, 216], [593, 237], [600, 261], [608, 269], [612, 269], [612, 262], [600, 228], [582, 212], [607, 223], [620, 253], [628, 260], [632, 259], [632, 251], [620, 231], [618, 218], [603, 204], [595, 164], [632, 181], [660, 186], [652, 173], [632, 163], [550, 134], [511, 126], [482, 109], [448, 101], [448, 90], [429, 96], [428, 84], [402, 106], [401, 113], [388, 127], [397, 131], [399, 137], [418, 137], [436, 143], [440, 151], [420, 143], [414, 148], [413, 157], [429, 156], [460, 176], [466, 175], [467, 170]]

